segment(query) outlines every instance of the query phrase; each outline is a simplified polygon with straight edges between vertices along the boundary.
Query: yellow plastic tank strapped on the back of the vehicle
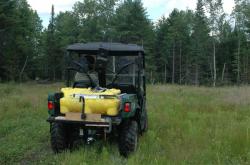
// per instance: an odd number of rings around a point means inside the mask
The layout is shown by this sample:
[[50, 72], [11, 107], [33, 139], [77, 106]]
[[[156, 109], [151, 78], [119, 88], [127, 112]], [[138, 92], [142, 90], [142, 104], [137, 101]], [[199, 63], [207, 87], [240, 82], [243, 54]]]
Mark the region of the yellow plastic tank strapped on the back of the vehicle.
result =
[[64, 97], [60, 99], [60, 111], [62, 114], [67, 112], [81, 112], [83, 103], [80, 97], [85, 99], [85, 113], [102, 114], [116, 116], [119, 112], [121, 93], [119, 89], [106, 89], [96, 91], [91, 88], [62, 88]]

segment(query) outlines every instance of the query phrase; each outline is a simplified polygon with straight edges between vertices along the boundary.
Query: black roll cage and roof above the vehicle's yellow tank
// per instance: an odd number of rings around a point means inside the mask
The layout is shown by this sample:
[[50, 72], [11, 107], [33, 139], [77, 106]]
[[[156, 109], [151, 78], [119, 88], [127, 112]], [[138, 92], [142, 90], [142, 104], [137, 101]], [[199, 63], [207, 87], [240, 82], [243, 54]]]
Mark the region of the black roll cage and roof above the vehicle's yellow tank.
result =
[[[91, 43], [76, 43], [67, 47], [67, 86], [70, 86], [70, 71], [74, 70], [87, 75], [91, 81], [91, 87], [95, 87], [91, 76], [84, 69], [86, 67], [81, 66], [72, 58], [72, 54], [78, 54], [79, 56], [95, 56], [96, 59], [96, 72], [98, 73], [99, 85], [103, 88], [118, 88], [123, 93], [134, 93], [138, 95], [138, 98], [144, 98], [146, 96], [146, 85], [145, 85], [145, 52], [141, 46], [135, 44], [123, 44], [123, 43], [103, 43], [103, 42], [91, 42]], [[120, 66], [120, 69], [113, 76], [111, 83], [106, 82], [106, 68], [108, 61], [111, 57], [136, 57], [134, 61], [125, 63]], [[73, 63], [73, 65], [72, 65]], [[136, 79], [134, 84], [125, 84], [116, 82], [119, 74], [131, 65], [136, 65], [137, 70]]]

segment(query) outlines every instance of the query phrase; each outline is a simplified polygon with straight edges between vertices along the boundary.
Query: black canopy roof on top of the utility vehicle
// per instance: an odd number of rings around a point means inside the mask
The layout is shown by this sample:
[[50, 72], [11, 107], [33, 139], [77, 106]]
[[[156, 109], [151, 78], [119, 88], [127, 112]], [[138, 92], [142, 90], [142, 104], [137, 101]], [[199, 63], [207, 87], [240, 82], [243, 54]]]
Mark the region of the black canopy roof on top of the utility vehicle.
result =
[[123, 43], [108, 43], [108, 42], [89, 42], [89, 43], [75, 43], [67, 47], [68, 51], [80, 52], [83, 54], [99, 54], [101, 51], [105, 51], [110, 56], [122, 56], [122, 55], [138, 55], [142, 53], [144, 55], [144, 49], [141, 46], [135, 44], [123, 44]]

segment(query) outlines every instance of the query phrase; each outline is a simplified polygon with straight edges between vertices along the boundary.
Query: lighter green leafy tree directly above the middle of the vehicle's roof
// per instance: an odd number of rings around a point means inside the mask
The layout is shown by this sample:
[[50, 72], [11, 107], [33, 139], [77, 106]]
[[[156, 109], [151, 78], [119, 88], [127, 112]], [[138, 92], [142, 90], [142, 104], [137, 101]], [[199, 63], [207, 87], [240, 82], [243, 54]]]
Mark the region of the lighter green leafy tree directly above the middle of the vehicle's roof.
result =
[[111, 21], [117, 0], [84, 0], [73, 7], [73, 14], [78, 19], [81, 41], [112, 40]]

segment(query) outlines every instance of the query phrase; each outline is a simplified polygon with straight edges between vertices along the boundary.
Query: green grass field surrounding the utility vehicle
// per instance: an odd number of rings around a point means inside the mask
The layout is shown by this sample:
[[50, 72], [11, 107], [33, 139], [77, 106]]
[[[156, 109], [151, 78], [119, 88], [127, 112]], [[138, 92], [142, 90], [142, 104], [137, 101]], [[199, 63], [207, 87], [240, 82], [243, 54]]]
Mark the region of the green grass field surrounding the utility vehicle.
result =
[[149, 130], [124, 159], [115, 143], [54, 154], [47, 94], [60, 85], [0, 85], [0, 164], [250, 164], [250, 87], [149, 86]]

